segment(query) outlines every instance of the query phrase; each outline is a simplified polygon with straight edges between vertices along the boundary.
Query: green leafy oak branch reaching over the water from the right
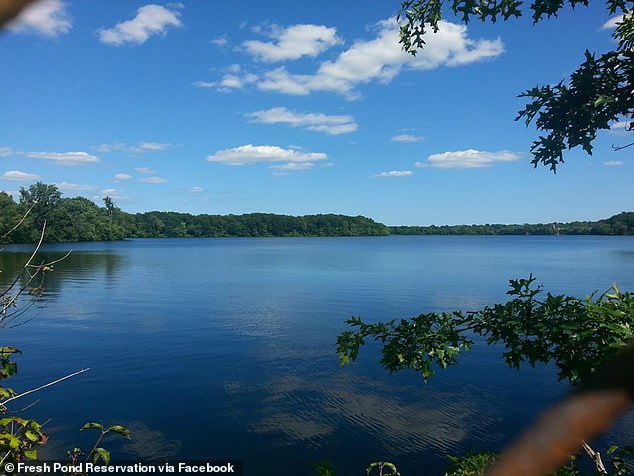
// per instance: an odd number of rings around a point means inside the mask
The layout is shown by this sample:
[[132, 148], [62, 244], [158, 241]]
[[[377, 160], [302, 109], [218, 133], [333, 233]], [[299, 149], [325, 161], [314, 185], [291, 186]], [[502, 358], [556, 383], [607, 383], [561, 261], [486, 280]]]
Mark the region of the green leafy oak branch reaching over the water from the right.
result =
[[457, 362], [473, 345], [474, 334], [487, 344], [502, 344], [507, 365], [553, 362], [560, 380], [572, 384], [591, 375], [607, 357], [634, 338], [634, 296], [615, 286], [586, 299], [546, 293], [535, 278], [510, 280], [513, 299], [479, 311], [421, 314], [411, 319], [366, 323], [359, 317], [347, 323], [355, 328], [337, 338], [342, 364], [356, 360], [366, 340], [382, 344], [381, 364], [391, 373], [410, 368], [424, 380], [437, 368]]

